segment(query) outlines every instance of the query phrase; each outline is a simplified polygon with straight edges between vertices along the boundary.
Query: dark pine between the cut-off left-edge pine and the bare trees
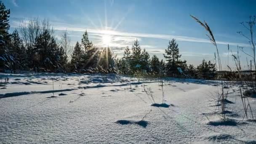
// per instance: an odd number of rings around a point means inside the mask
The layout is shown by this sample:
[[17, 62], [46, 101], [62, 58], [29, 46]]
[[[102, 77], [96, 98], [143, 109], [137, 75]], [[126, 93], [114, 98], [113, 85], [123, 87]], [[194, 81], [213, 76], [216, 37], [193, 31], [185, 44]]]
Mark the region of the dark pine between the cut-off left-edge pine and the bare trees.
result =
[[10, 54], [13, 57], [13, 70], [24, 70], [27, 68], [27, 55], [23, 41], [15, 29], [11, 35]]

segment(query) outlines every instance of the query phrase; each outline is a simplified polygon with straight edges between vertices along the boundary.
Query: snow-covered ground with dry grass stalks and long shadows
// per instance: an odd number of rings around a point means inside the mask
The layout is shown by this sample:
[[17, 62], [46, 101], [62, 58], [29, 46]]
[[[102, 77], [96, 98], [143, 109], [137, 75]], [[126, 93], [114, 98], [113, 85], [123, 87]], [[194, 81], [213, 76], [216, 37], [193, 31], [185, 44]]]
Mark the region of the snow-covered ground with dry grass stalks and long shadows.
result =
[[[162, 91], [160, 80], [113, 74], [0, 77], [9, 77], [0, 84], [3, 144], [256, 143], [256, 122], [243, 120], [236, 85], [225, 89], [225, 123], [215, 106], [218, 81], [169, 78]], [[256, 99], [248, 100], [256, 116]]]

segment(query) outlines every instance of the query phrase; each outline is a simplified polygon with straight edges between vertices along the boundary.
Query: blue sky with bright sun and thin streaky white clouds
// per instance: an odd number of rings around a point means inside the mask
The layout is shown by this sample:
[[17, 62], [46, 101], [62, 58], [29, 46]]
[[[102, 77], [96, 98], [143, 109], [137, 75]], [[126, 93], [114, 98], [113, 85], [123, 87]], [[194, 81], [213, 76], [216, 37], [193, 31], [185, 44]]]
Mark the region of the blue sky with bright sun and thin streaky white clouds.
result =
[[[11, 29], [28, 19], [50, 21], [56, 40], [68, 31], [71, 44], [81, 41], [87, 29], [89, 39], [99, 47], [111, 47], [117, 57], [138, 39], [141, 48], [163, 59], [169, 40], [179, 44], [181, 59], [198, 65], [203, 59], [214, 60], [216, 48], [207, 32], [189, 15], [206, 21], [217, 41], [221, 62], [235, 67], [230, 50], [237, 45], [252, 53], [248, 40], [237, 34], [246, 29], [240, 22], [256, 15], [256, 0], [2, 0], [11, 9]], [[244, 68], [251, 58], [239, 53]], [[225, 68], [224, 68], [225, 69]]]

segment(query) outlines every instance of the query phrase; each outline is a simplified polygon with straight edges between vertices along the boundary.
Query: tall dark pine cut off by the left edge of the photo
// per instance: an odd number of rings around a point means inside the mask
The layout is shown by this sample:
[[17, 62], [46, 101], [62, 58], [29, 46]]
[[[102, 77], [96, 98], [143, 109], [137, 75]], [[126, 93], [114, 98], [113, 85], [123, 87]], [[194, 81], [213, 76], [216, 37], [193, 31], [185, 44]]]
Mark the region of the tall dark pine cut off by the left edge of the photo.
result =
[[3, 3], [0, 4], [0, 71], [5, 67], [9, 67], [12, 57], [9, 53], [10, 29], [9, 24], [10, 9], [6, 9]]

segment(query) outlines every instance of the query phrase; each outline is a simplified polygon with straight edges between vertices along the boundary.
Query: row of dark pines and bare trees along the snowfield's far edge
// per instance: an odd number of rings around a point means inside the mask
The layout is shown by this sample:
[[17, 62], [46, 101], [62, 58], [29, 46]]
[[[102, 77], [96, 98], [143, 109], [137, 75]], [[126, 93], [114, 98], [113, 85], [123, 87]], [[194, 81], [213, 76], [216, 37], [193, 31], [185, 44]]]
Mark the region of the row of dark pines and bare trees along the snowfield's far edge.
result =
[[168, 43], [163, 54], [150, 58], [146, 49], [135, 40], [131, 49], [126, 47], [118, 59], [111, 48], [99, 48], [89, 40], [85, 30], [80, 43], [70, 51], [67, 31], [58, 43], [48, 21], [29, 20], [11, 34], [10, 9], [0, 5], [0, 71], [118, 73], [126, 75], [150, 75], [213, 79], [216, 67], [203, 59], [197, 67], [181, 60], [179, 45], [175, 39]]

